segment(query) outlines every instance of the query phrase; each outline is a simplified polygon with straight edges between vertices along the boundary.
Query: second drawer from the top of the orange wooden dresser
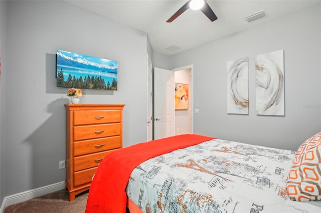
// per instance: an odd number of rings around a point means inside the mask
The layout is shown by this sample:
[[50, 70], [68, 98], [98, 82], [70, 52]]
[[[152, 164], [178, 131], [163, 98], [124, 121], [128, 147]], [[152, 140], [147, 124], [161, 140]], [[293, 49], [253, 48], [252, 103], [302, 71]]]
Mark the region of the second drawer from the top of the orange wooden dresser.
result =
[[94, 139], [121, 134], [121, 123], [74, 126], [74, 140]]

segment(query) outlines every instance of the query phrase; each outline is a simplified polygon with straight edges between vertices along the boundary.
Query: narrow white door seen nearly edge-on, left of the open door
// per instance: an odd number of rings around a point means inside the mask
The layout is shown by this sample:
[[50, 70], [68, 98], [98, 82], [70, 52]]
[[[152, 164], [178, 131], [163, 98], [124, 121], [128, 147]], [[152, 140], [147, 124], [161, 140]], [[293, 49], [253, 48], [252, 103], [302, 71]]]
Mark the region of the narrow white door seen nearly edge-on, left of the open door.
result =
[[147, 55], [147, 141], [152, 140], [152, 78], [151, 61]]

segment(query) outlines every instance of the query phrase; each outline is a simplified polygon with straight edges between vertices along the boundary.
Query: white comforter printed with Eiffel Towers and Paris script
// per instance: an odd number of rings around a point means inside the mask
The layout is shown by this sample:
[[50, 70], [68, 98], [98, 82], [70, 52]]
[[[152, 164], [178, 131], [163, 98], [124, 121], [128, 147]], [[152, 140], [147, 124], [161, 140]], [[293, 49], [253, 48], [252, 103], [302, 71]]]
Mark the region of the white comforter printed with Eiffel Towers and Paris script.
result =
[[295, 152], [212, 139], [151, 158], [126, 192], [143, 212], [321, 212], [285, 188]]

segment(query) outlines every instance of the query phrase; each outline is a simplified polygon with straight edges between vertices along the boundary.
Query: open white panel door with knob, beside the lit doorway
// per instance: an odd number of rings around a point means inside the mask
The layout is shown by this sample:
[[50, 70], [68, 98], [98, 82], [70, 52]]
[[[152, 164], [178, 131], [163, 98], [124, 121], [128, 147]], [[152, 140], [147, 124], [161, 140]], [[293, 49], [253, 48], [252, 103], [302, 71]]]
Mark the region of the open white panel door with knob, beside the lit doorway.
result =
[[154, 139], [174, 135], [174, 72], [154, 68]]

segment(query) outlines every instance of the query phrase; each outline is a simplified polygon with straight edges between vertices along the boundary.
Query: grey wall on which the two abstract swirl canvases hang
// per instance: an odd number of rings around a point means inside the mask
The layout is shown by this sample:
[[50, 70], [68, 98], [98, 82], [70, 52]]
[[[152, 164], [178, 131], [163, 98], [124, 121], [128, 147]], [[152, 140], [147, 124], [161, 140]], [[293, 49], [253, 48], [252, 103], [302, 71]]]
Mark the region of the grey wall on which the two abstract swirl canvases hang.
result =
[[[194, 104], [200, 108], [194, 114], [194, 133], [296, 150], [320, 131], [320, 10], [318, 4], [172, 56], [172, 68], [194, 65]], [[285, 116], [258, 116], [255, 55], [280, 49]], [[249, 58], [249, 114], [227, 114], [226, 62], [241, 57]]]

